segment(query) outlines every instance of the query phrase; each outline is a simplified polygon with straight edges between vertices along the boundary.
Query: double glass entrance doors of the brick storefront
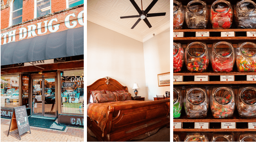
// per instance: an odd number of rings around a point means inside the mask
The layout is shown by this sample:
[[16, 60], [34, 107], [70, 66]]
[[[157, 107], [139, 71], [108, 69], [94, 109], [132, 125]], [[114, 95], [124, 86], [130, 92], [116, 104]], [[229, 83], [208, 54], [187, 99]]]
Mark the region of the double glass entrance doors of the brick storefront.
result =
[[32, 79], [33, 115], [55, 117], [55, 78]]

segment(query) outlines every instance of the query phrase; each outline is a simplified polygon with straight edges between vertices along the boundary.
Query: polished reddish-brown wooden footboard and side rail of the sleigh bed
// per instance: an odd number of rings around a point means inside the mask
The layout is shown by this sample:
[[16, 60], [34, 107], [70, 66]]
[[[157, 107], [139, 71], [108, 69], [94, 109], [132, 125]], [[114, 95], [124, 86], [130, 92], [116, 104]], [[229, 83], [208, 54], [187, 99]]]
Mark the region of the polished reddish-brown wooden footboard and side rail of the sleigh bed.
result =
[[[114, 111], [118, 115], [112, 118]], [[170, 125], [170, 99], [109, 106], [104, 132], [97, 122], [87, 118], [87, 126], [100, 141], [127, 141], [158, 127]]]

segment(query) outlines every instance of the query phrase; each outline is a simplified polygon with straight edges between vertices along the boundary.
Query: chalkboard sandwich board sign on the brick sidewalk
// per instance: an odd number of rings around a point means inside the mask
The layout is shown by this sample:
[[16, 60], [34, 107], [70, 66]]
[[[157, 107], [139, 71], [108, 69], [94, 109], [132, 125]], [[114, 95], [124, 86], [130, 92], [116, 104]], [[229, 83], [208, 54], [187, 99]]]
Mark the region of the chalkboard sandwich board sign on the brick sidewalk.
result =
[[20, 140], [23, 133], [26, 133], [27, 131], [31, 133], [25, 105], [13, 108], [7, 136], [9, 135], [9, 132], [12, 132], [16, 129], [19, 131]]

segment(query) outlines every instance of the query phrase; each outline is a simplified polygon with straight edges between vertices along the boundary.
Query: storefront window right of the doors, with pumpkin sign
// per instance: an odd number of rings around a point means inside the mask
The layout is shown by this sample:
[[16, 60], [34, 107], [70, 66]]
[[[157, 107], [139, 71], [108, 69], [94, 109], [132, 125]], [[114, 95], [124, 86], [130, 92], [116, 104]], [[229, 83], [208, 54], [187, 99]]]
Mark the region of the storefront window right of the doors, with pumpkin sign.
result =
[[83, 114], [83, 70], [61, 72], [61, 112]]

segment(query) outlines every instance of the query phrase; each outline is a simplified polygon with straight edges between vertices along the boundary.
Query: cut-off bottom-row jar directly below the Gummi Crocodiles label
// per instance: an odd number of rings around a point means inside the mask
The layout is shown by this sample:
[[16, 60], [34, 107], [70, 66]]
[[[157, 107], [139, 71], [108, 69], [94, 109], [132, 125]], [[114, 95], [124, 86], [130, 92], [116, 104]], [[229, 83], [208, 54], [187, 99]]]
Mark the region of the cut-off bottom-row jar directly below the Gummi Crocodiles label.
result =
[[212, 134], [211, 141], [235, 141], [235, 137], [232, 133], [215, 132]]

